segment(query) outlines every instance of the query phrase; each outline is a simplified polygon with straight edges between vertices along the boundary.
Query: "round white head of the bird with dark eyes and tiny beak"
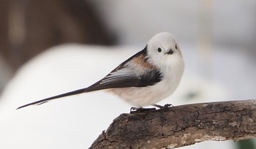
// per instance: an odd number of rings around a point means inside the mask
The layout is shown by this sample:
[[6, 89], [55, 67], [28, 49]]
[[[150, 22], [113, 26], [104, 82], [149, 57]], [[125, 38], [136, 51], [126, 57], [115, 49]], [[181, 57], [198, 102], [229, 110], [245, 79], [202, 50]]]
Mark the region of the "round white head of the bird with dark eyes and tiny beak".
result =
[[147, 44], [148, 62], [161, 67], [184, 65], [181, 50], [175, 37], [167, 32], [154, 35]]

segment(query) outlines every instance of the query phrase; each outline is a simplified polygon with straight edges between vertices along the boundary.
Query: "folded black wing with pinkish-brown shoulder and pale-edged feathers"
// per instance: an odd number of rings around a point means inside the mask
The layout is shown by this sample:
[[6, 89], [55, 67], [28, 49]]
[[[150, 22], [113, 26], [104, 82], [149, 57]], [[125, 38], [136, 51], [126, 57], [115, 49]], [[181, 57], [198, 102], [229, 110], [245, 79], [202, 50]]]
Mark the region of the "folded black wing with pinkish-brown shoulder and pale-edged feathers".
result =
[[113, 69], [106, 77], [86, 88], [85, 92], [108, 88], [144, 87], [162, 78], [161, 72], [148, 64], [146, 47]]

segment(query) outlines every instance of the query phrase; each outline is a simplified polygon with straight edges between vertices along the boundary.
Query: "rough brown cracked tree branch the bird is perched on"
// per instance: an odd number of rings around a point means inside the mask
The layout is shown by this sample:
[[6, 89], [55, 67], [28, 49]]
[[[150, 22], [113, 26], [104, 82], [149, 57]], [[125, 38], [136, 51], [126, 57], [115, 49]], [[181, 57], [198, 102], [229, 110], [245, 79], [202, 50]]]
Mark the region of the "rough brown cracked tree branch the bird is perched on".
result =
[[256, 100], [187, 104], [121, 114], [90, 148], [178, 148], [256, 137]]

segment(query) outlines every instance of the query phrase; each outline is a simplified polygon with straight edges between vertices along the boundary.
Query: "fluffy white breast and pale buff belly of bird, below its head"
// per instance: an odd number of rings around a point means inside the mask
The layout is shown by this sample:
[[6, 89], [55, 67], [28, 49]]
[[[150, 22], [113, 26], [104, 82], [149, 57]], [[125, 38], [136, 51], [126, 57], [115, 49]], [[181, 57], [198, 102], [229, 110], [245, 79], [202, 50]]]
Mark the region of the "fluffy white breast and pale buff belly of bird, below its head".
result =
[[169, 66], [163, 67], [163, 77], [159, 83], [146, 87], [111, 88], [108, 92], [119, 96], [133, 106], [145, 107], [156, 104], [168, 96], [178, 87], [184, 72], [184, 61], [182, 57], [170, 58]]

